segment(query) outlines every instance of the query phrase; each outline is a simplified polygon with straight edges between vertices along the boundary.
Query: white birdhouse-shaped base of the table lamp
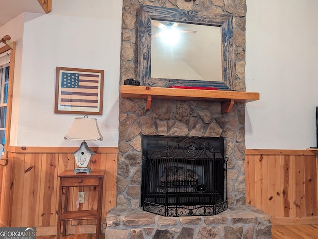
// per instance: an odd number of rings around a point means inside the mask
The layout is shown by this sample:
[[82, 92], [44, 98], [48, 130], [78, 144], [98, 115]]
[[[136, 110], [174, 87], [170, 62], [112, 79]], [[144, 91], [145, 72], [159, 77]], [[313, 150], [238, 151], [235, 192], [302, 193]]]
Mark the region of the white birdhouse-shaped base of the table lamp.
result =
[[82, 142], [79, 149], [75, 151], [73, 154], [76, 165], [78, 166], [74, 169], [74, 174], [84, 172], [90, 174], [90, 168], [88, 167], [88, 163], [90, 161], [91, 156], [95, 153], [89, 149], [87, 143], [85, 141]]

